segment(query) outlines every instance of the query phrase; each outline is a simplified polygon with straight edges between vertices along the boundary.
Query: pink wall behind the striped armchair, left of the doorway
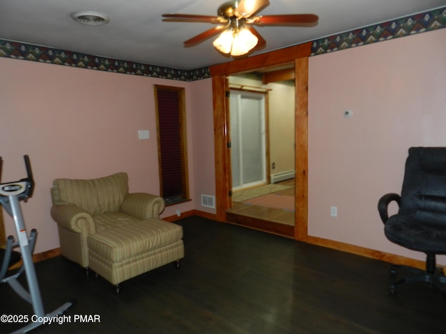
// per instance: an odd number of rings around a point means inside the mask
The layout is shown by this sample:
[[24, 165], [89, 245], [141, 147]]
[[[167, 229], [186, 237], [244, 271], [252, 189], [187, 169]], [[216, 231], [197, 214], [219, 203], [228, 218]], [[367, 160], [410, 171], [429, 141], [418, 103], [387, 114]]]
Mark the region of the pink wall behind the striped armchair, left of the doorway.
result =
[[[201, 134], [209, 135], [201, 127], [213, 128], [210, 80], [187, 83], [1, 57], [0, 72], [1, 182], [24, 177], [22, 156], [29, 154], [36, 189], [22, 209], [27, 228], [39, 232], [36, 253], [59, 247], [56, 223], [49, 215], [49, 189], [56, 177], [93, 178], [125, 171], [131, 192], [160, 193], [154, 84], [185, 87], [187, 101], [192, 201], [168, 207], [163, 216], [174, 215], [176, 209], [201, 209], [201, 191], [214, 195], [215, 186], [194, 172], [198, 161], [208, 180], [215, 180], [213, 150], [193, 149]], [[196, 120], [199, 125], [193, 125]], [[139, 140], [141, 129], [148, 129], [151, 138]], [[202, 142], [212, 142], [209, 136], [200, 138], [197, 148], [208, 150]], [[12, 220], [6, 212], [3, 216], [7, 235], [15, 234]]]

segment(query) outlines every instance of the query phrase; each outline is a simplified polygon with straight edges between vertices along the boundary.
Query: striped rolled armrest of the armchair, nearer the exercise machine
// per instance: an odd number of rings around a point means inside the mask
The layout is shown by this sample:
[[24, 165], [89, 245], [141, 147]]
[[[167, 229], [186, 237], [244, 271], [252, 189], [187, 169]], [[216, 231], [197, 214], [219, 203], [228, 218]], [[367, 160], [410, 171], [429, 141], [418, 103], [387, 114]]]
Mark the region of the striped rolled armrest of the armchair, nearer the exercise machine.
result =
[[96, 232], [91, 214], [75, 205], [53, 205], [51, 216], [56, 223], [72, 232], [86, 235]]

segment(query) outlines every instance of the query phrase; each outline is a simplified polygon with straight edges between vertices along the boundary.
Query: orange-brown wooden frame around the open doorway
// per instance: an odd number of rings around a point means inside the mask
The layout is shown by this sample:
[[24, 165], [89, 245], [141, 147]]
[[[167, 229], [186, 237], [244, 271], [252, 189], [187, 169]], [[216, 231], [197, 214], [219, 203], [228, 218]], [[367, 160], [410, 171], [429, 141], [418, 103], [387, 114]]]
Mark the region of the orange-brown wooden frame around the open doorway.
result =
[[295, 66], [295, 230], [297, 240], [308, 236], [308, 58], [312, 42], [210, 67], [213, 81], [216, 218], [226, 221], [231, 199], [231, 154], [227, 148], [229, 90], [226, 77], [278, 65]]

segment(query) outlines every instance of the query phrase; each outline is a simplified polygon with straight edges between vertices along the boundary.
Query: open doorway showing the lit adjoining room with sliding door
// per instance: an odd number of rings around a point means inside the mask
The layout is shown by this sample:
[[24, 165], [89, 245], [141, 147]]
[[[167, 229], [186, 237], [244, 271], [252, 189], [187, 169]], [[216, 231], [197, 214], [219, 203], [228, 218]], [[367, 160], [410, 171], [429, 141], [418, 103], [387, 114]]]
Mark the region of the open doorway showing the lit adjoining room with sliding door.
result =
[[[292, 227], [295, 225], [294, 72], [293, 65], [288, 65], [228, 77], [231, 88], [229, 132], [232, 173], [229, 221], [241, 215]], [[272, 78], [272, 75], [275, 77]], [[241, 104], [239, 101], [244, 100], [243, 93], [248, 99], [257, 98], [259, 103]], [[261, 100], [261, 97], [264, 99]], [[261, 118], [263, 109], [266, 110], [264, 119]], [[246, 113], [246, 122], [251, 125], [245, 129], [238, 124], [239, 113], [243, 112]], [[252, 136], [252, 127], [258, 136]], [[241, 183], [238, 177], [239, 157], [243, 156], [243, 152], [240, 154], [234, 143], [238, 141], [240, 132], [246, 132], [245, 136], [255, 141], [246, 152], [249, 158], [256, 159], [254, 168], [249, 168], [254, 178], [247, 184]], [[261, 171], [265, 173], [261, 175]]]

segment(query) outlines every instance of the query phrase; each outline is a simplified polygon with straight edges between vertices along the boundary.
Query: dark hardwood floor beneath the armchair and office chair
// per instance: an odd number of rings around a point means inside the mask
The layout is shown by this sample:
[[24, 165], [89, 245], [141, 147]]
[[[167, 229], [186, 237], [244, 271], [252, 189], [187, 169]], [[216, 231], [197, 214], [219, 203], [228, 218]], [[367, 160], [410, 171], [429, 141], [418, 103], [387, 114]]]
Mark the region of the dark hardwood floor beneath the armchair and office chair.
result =
[[[99, 315], [100, 323], [32, 333], [445, 333], [446, 299], [424, 284], [389, 296], [385, 262], [205, 218], [177, 223], [181, 269], [128, 280], [120, 295], [63, 257], [38, 262], [47, 312], [77, 299], [67, 315]], [[8, 285], [0, 296], [0, 315], [32, 314]], [[18, 327], [0, 324], [0, 333]]]

